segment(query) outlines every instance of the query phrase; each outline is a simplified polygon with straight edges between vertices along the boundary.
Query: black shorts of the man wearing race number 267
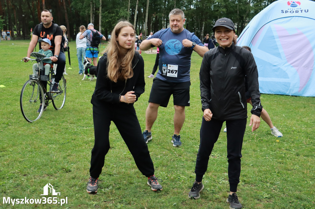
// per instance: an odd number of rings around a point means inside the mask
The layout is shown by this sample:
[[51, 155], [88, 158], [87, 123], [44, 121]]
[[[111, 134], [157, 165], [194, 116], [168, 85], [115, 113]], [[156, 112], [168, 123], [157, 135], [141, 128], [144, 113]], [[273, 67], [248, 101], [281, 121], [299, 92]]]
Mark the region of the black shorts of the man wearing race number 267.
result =
[[175, 83], [153, 79], [149, 102], [167, 107], [169, 98], [173, 94], [173, 103], [178, 106], [190, 106], [190, 81]]

